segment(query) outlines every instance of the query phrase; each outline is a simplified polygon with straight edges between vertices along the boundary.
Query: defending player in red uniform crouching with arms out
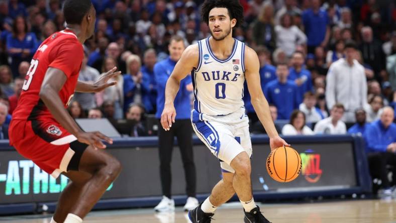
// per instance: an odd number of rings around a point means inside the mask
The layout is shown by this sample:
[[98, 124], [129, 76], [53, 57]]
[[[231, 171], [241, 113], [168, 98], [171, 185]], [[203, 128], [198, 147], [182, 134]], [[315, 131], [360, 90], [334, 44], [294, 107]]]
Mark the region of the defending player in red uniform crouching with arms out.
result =
[[18, 106], [10, 124], [10, 144], [53, 177], [71, 182], [60, 195], [51, 223], [80, 223], [121, 171], [103, 150], [100, 132], [84, 132], [65, 107], [73, 92], [97, 92], [116, 84], [108, 80], [116, 68], [94, 84], [77, 81], [83, 59], [82, 43], [92, 36], [95, 9], [90, 0], [66, 0], [66, 29], [51, 35], [33, 56]]

